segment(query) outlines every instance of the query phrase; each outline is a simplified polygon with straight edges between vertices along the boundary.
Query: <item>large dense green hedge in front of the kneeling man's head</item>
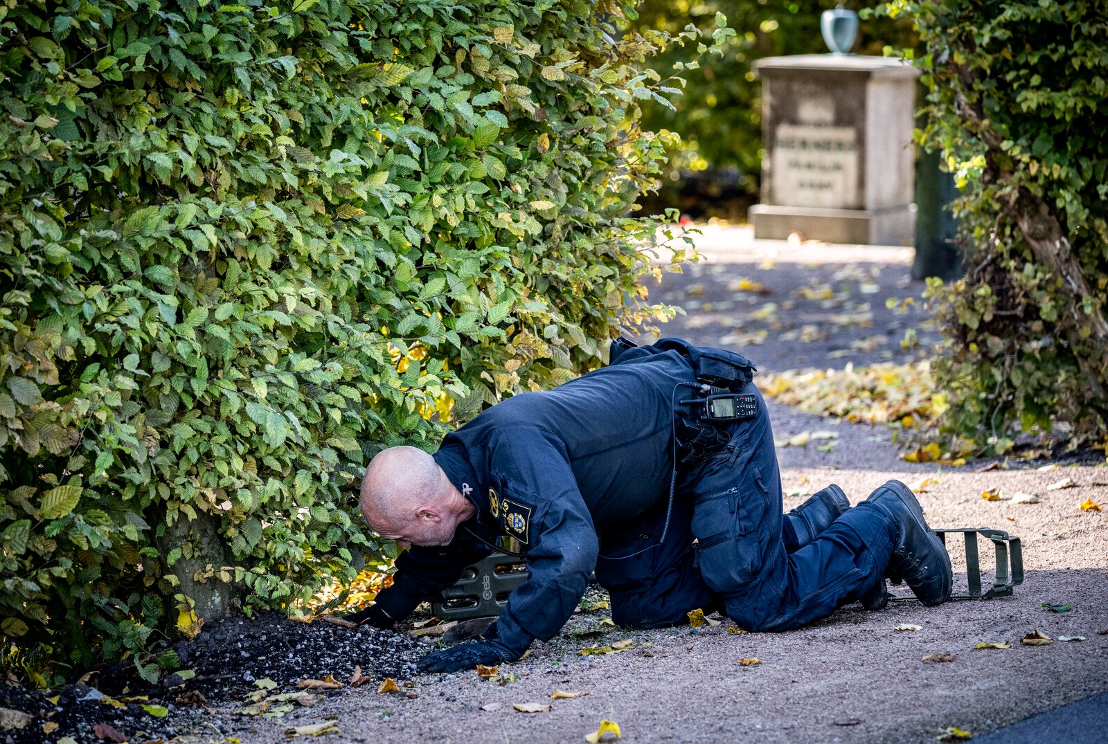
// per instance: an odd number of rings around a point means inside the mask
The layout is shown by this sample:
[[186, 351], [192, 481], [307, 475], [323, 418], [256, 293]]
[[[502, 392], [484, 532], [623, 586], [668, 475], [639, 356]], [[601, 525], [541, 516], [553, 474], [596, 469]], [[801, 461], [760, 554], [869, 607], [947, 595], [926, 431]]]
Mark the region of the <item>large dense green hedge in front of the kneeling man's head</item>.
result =
[[368, 455], [669, 312], [628, 217], [665, 40], [623, 12], [0, 6], [7, 665], [52, 683], [350, 578], [388, 549]]

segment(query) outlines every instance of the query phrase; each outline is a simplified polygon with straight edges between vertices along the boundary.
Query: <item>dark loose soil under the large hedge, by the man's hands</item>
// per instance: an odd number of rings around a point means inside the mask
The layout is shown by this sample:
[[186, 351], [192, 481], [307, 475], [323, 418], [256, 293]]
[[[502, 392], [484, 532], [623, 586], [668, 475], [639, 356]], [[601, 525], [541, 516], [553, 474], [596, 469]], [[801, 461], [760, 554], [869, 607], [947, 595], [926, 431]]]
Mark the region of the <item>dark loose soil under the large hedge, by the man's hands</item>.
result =
[[[195, 676], [186, 680], [164, 674], [152, 686], [135, 674], [133, 664], [124, 663], [92, 672], [86, 684], [68, 684], [49, 693], [12, 683], [0, 686], [0, 706], [31, 716], [22, 720], [22, 726], [0, 732], [0, 742], [54, 743], [63, 737], [78, 744], [156, 742], [184, 734], [222, 738], [223, 732], [233, 727], [227, 725], [228, 716], [249, 715], [242, 709], [255, 702], [260, 705], [254, 714], [264, 715], [314, 704], [318, 695], [341, 694], [355, 666], [369, 678], [367, 685], [377, 686], [390, 676], [409, 680], [416, 673], [416, 661], [433, 645], [403, 632], [348, 629], [320, 621], [306, 624], [270, 613], [214, 623], [196, 640], [173, 649], [179, 668], [192, 670]], [[300, 680], [327, 675], [342, 689], [297, 688]], [[263, 689], [257, 684], [260, 680], [275, 684]], [[274, 700], [284, 693], [301, 694]], [[167, 714], [160, 717], [144, 705], [164, 706]], [[242, 722], [237, 726], [242, 727]]]

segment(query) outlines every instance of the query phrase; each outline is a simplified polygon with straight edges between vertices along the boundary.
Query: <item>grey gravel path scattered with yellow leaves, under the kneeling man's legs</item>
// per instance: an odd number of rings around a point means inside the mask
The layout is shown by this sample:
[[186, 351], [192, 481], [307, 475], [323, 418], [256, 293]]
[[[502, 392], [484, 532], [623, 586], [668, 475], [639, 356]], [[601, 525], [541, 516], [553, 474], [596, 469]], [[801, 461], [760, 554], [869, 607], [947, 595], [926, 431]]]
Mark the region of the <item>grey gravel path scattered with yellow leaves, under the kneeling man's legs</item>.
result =
[[[680, 301], [691, 286], [697, 302], [714, 307], [665, 332], [741, 350], [763, 370], [905, 359], [911, 352], [899, 339], [925, 320], [915, 308], [885, 313], [885, 297], [919, 297], [922, 290], [922, 282], [907, 279], [910, 254], [903, 250], [756, 244], [741, 230], [722, 229], [708, 230], [701, 246], [709, 261], [667, 277], [661, 291]], [[773, 268], [766, 268], [770, 261]], [[727, 289], [742, 278], [759, 282], [760, 291]], [[798, 296], [801, 287], [814, 289]], [[765, 312], [774, 298], [774, 312]], [[829, 307], [821, 306], [828, 301]], [[719, 302], [731, 304], [720, 310]], [[759, 310], [760, 320], [752, 317]], [[829, 317], [843, 320], [844, 314], [855, 316], [855, 322], [835, 323]], [[817, 327], [809, 341], [800, 341], [800, 333], [782, 338], [809, 324]], [[767, 331], [760, 342], [721, 342], [727, 333], [738, 334], [733, 341], [759, 330]], [[822, 330], [828, 333], [814, 338]], [[926, 332], [922, 328], [921, 335]], [[868, 337], [885, 342], [852, 347]], [[606, 610], [583, 611], [523, 661], [502, 665], [501, 678], [514, 679], [506, 684], [466, 672], [413, 676], [406, 680], [413, 686], [401, 693], [378, 694], [368, 684], [343, 688], [283, 719], [223, 717], [222, 733], [243, 744], [278, 742], [286, 741], [289, 726], [332, 720], [341, 730], [337, 737], [349, 742], [582, 742], [608, 719], [619, 724], [626, 742], [930, 742], [947, 727], [979, 734], [1108, 690], [1108, 512], [1078, 506], [1091, 498], [1108, 509], [1108, 469], [1091, 466], [1088, 457], [1084, 465], [1048, 469], [1037, 467], [1042, 462], [987, 472], [977, 468], [989, 461], [961, 468], [909, 464], [884, 427], [835, 424], [778, 405], [771, 413], [779, 437], [831, 428], [840, 435], [831, 452], [818, 451], [814, 443], [779, 451], [787, 492], [834, 482], [859, 502], [889, 478], [935, 477], [937, 483], [920, 496], [929, 521], [1019, 536], [1024, 585], [1014, 597], [937, 608], [905, 601], [866, 612], [848, 606], [822, 622], [779, 634], [732, 634], [726, 619], [697, 629], [624, 631], [604, 624]], [[1074, 485], [1048, 489], [1061, 478]], [[1039, 502], [983, 499], [982, 492], [992, 488], [1002, 496], [1034, 494]], [[787, 497], [786, 508], [799, 502]], [[964, 582], [961, 551], [952, 552], [956, 578]], [[991, 552], [983, 546], [983, 564], [988, 565]], [[1050, 613], [1044, 603], [1071, 609]], [[919, 630], [897, 631], [903, 624]], [[1019, 642], [1036, 629], [1054, 642]], [[578, 655], [586, 647], [620, 640], [640, 645]], [[1012, 648], [976, 650], [979, 642]], [[922, 661], [937, 653], [954, 659]], [[739, 662], [755, 658], [756, 665]], [[555, 690], [578, 696], [552, 700]], [[551, 710], [513, 709], [529, 702], [548, 703]], [[1104, 741], [1096, 738], [1102, 731], [1089, 731], [1088, 741]]]

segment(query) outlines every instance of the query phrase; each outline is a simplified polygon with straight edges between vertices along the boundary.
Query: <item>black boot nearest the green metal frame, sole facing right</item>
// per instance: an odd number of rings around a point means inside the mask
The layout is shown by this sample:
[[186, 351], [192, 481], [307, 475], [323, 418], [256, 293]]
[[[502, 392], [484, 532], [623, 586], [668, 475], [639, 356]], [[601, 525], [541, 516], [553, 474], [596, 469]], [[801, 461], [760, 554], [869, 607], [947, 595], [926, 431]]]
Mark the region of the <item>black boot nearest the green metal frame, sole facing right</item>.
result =
[[[893, 583], [906, 581], [924, 604], [941, 604], [950, 599], [954, 586], [951, 557], [923, 518], [923, 508], [915, 494], [900, 480], [890, 480], [865, 500], [881, 508], [896, 529], [896, 544], [885, 576]], [[882, 576], [861, 597], [861, 602], [869, 610], [878, 610], [888, 599], [885, 577]]]

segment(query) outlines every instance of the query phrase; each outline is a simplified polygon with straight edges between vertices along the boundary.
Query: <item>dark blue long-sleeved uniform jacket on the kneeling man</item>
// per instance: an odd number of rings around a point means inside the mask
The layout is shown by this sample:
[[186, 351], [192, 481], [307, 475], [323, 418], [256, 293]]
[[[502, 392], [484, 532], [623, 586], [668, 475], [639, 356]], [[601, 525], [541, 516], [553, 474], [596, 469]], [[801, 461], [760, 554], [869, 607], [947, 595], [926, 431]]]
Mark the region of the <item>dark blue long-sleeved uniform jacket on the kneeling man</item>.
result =
[[[636, 353], [644, 350], [644, 353]], [[378, 603], [394, 618], [438, 599], [502, 535], [523, 546], [530, 577], [496, 623], [521, 652], [553, 637], [596, 566], [597, 533], [669, 498], [676, 401], [693, 368], [677, 351], [632, 350], [618, 364], [523, 393], [449, 434], [434, 458], [478, 508], [445, 547], [413, 546]]]

